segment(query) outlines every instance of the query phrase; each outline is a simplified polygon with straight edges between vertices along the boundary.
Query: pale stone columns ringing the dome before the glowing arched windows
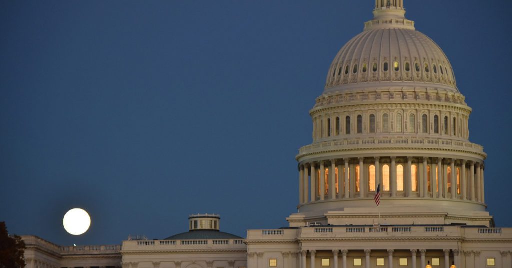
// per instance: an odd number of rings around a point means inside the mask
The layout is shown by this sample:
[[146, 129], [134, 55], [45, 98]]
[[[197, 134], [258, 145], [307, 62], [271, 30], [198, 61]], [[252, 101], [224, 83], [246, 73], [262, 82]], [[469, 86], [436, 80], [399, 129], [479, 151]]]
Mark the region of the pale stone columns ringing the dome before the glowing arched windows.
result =
[[[381, 164], [380, 157], [372, 157], [374, 161], [371, 164], [375, 165], [375, 185], [382, 185], [382, 174], [381, 174]], [[407, 165], [403, 170], [403, 189], [404, 195], [406, 197], [412, 197], [412, 165], [414, 157], [407, 157]], [[311, 162], [301, 164], [300, 166], [300, 174], [299, 174], [299, 199], [300, 203], [308, 203], [311, 197], [311, 202], [316, 200], [326, 200], [326, 199], [350, 199], [356, 197], [356, 167], [357, 161], [359, 167], [365, 167], [365, 158], [359, 157], [357, 159], [353, 158], [345, 158], [343, 162], [341, 160], [331, 159], [330, 165], [329, 162], [319, 161], [319, 162]], [[457, 199], [457, 171], [455, 162], [456, 159], [447, 159], [449, 164], [443, 164], [443, 158], [432, 158], [429, 166], [429, 158], [422, 157], [419, 160], [422, 161], [423, 169], [420, 171], [418, 169], [418, 192], [419, 197], [431, 197], [429, 192], [432, 193], [432, 198], [450, 198], [448, 193], [448, 181], [451, 182], [451, 199]], [[469, 164], [469, 174], [466, 174], [466, 165]], [[397, 162], [396, 157], [391, 157], [390, 164], [390, 196], [397, 196]], [[431, 185], [430, 189], [428, 189], [428, 167], [431, 170]], [[436, 168], [438, 174], [436, 174]], [[448, 178], [447, 168], [451, 167], [451, 176]], [[459, 167], [459, 166], [457, 166]], [[485, 202], [485, 194], [484, 194], [484, 168], [483, 164], [474, 161], [461, 160], [461, 169], [460, 169], [460, 196], [462, 200], [471, 200], [471, 201], [479, 201]], [[317, 176], [317, 168], [320, 169], [320, 177]], [[339, 194], [336, 193], [336, 172], [338, 169], [338, 189]], [[326, 195], [326, 169], [329, 169], [329, 192]], [[343, 172], [344, 171], [344, 172]], [[368, 181], [365, 177], [365, 168], [359, 168], [359, 198], [367, 197], [367, 186]], [[422, 175], [420, 175], [422, 173]], [[439, 186], [437, 185], [436, 178], [439, 181]], [[317, 180], [319, 180], [319, 196], [317, 196]], [[469, 184], [468, 183], [469, 181]], [[343, 187], [343, 185], [348, 185], [348, 187]], [[469, 187], [468, 187], [469, 186]], [[311, 188], [311, 189], [309, 189]], [[437, 189], [439, 188], [439, 192]], [[469, 190], [469, 193], [467, 191]], [[381, 188], [383, 191], [383, 188]]]

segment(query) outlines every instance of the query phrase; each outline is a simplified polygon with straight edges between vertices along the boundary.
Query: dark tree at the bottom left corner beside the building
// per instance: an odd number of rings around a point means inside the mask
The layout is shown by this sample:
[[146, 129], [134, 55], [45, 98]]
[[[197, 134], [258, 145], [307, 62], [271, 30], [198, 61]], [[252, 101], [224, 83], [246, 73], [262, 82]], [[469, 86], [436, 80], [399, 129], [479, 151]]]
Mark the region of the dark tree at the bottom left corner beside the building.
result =
[[25, 267], [25, 242], [21, 237], [9, 236], [7, 225], [0, 222], [0, 268]]

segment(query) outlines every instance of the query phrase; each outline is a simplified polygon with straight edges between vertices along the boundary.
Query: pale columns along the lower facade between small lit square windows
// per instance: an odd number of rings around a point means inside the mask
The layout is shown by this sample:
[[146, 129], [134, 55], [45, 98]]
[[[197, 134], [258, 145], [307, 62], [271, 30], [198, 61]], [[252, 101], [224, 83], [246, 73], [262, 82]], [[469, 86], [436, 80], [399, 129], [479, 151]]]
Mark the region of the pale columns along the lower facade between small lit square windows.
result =
[[[365, 250], [365, 262], [366, 262], [366, 265], [365, 267], [371, 267], [370, 266], [370, 258], [371, 258], [371, 250]], [[388, 267], [389, 268], [393, 268], [393, 254], [394, 254], [394, 250], [388, 250]], [[411, 259], [412, 259], [412, 267], [417, 267], [417, 258], [418, 258], [418, 252], [419, 252], [419, 255], [420, 255], [420, 262], [421, 262], [421, 265], [420, 267], [425, 267], [426, 266], [426, 252], [427, 250], [411, 250]], [[445, 268], [450, 268], [452, 263], [455, 264], [455, 266], [457, 267], [461, 267], [460, 264], [461, 264], [461, 261], [460, 261], [460, 252], [459, 250], [443, 250], [444, 252], [444, 267]], [[453, 252], [453, 262], [450, 262], [450, 254], [451, 252]], [[342, 253], [342, 267], [341, 268], [347, 268], [348, 265], [347, 265], [347, 256], [348, 256], [348, 253], [349, 251], [348, 250], [333, 250], [332, 251], [333, 253], [333, 260], [334, 260], [334, 268], [338, 268], [338, 258], [339, 258], [339, 253]], [[301, 268], [308, 268], [307, 267], [307, 254], [308, 254], [308, 251], [301, 251]], [[315, 250], [310, 250], [309, 251], [309, 255], [310, 255], [310, 267], [309, 268], [315, 268], [315, 255], [316, 255], [316, 251]]]

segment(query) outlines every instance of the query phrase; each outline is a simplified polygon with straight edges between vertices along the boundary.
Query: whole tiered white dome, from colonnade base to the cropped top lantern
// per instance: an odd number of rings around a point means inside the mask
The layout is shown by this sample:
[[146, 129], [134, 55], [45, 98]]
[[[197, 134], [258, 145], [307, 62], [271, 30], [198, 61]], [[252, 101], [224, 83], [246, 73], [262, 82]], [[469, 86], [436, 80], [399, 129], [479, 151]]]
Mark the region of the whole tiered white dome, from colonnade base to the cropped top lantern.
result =
[[[492, 225], [483, 147], [469, 140], [472, 109], [450, 61], [405, 17], [403, 0], [376, 0], [374, 19], [334, 58], [310, 111], [313, 143], [296, 156], [291, 226]], [[398, 220], [399, 219], [399, 220]]]

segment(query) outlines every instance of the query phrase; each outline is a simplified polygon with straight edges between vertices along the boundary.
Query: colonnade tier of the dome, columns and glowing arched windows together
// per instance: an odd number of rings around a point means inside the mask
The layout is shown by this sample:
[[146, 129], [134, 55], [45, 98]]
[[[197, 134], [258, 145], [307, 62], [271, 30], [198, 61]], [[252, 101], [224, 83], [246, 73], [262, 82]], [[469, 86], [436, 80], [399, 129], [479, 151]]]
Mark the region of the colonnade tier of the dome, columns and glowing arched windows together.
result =
[[386, 197], [485, 202], [481, 162], [429, 157], [359, 157], [300, 164], [301, 204], [373, 198], [379, 184], [381, 195]]

